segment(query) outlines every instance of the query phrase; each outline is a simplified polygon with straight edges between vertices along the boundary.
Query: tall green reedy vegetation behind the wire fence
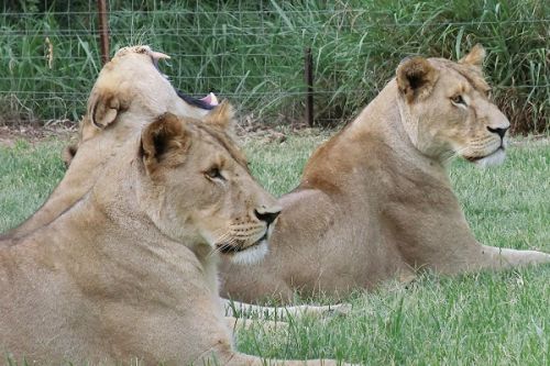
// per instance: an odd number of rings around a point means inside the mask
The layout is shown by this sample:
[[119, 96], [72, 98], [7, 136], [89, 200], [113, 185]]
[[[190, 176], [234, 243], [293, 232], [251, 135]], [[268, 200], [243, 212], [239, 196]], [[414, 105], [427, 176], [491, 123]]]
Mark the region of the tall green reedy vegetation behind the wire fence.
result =
[[[101, 68], [95, 0], [3, 0], [0, 124], [77, 121]], [[176, 88], [215, 91], [261, 123], [304, 121], [311, 47], [316, 122], [345, 123], [409, 55], [458, 59], [476, 43], [516, 133], [549, 134], [546, 0], [111, 0], [111, 56], [148, 44]]]

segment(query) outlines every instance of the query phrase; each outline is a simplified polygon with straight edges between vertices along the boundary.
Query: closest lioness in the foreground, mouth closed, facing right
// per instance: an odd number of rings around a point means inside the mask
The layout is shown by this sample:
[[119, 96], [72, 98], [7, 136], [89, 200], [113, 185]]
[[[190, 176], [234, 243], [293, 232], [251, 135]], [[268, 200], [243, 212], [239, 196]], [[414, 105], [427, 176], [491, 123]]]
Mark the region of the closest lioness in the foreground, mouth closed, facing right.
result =
[[251, 177], [230, 120], [226, 103], [204, 121], [157, 118], [63, 214], [1, 243], [2, 354], [40, 364], [264, 365], [233, 350], [216, 264], [219, 254], [262, 257], [280, 209]]

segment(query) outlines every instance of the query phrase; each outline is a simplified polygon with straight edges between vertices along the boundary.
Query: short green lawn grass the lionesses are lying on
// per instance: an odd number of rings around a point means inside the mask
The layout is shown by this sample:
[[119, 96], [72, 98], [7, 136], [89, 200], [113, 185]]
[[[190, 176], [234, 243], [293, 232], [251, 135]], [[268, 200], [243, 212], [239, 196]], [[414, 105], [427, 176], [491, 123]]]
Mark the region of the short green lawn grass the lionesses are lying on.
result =
[[[275, 195], [294, 188], [330, 133], [283, 144], [246, 140], [252, 170]], [[0, 232], [32, 213], [63, 176], [59, 142], [0, 147]], [[451, 178], [485, 244], [550, 252], [550, 145], [509, 149], [479, 170], [454, 162]], [[340, 357], [367, 365], [549, 365], [550, 266], [460, 277], [422, 275], [350, 297], [348, 317], [294, 320], [289, 331], [241, 330], [238, 347], [265, 357]], [[321, 299], [327, 302], [327, 299]]]

